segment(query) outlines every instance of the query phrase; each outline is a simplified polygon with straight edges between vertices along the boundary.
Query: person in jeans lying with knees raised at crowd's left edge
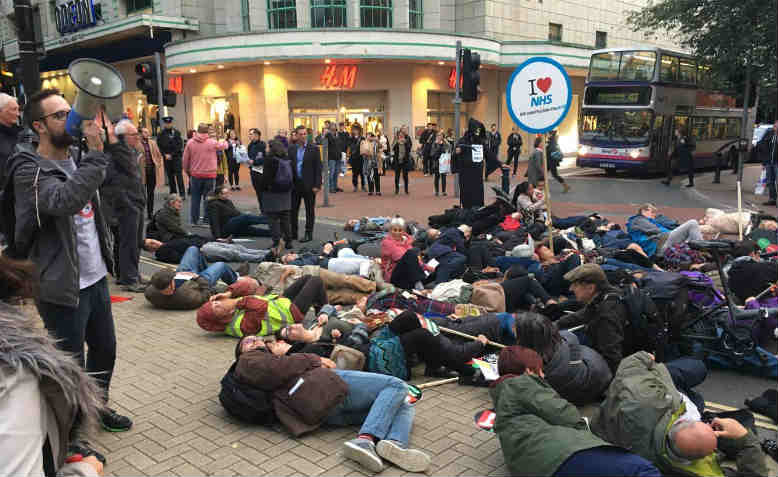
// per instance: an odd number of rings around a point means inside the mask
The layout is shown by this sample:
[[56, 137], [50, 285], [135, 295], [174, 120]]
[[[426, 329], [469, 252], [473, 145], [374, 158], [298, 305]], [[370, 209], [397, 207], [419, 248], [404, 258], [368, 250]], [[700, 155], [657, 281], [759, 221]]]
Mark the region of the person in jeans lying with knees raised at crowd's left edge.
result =
[[156, 308], [194, 310], [215, 293], [219, 280], [227, 285], [243, 280], [249, 282], [244, 286], [257, 286], [257, 281], [248, 277], [248, 273], [248, 263], [242, 264], [236, 271], [224, 262], [209, 265], [197, 247], [189, 247], [175, 271], [162, 269], [151, 276], [144, 294]]

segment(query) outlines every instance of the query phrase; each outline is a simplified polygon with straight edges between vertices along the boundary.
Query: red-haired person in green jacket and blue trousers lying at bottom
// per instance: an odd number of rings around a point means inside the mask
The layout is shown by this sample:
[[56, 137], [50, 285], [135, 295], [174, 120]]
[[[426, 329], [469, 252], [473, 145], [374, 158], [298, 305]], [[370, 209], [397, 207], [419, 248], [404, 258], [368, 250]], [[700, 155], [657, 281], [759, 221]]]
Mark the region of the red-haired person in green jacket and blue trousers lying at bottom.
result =
[[500, 352], [489, 391], [494, 432], [511, 475], [660, 476], [643, 457], [595, 436], [578, 409], [548, 383], [542, 358], [511, 346]]

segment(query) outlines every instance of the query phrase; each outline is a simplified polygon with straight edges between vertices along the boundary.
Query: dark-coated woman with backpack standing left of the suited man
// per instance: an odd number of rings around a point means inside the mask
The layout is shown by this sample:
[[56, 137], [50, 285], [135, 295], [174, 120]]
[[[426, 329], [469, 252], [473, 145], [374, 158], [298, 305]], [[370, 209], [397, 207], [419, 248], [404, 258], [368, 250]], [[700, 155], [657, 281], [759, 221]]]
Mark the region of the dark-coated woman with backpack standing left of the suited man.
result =
[[292, 165], [281, 141], [270, 141], [270, 152], [265, 158], [262, 173], [262, 213], [270, 219], [273, 249], [280, 255], [281, 237], [284, 248], [293, 247], [289, 211], [292, 209]]

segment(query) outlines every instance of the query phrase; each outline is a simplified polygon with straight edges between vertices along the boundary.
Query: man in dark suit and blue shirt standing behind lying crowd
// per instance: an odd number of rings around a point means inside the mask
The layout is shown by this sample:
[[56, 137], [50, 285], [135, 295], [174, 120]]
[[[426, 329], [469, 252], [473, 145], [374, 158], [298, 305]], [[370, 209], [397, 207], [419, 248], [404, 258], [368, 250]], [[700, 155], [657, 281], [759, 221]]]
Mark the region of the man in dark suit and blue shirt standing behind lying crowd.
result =
[[300, 201], [305, 201], [305, 237], [300, 242], [310, 242], [316, 222], [316, 193], [321, 189], [321, 157], [319, 148], [308, 142], [305, 126], [297, 126], [297, 144], [289, 146], [289, 159], [294, 175], [290, 217], [292, 237], [297, 240]]

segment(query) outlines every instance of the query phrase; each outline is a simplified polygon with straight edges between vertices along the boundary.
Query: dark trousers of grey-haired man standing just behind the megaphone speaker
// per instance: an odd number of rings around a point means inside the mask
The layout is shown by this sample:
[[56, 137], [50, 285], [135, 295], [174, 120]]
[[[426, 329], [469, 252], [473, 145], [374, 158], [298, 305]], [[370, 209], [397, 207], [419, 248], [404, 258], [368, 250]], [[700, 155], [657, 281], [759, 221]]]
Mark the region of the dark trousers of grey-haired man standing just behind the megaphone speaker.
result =
[[143, 211], [141, 209], [120, 209], [119, 224], [111, 227], [114, 239], [114, 255], [118, 259], [117, 283], [131, 285], [138, 282], [140, 261], [140, 240], [143, 236]]

